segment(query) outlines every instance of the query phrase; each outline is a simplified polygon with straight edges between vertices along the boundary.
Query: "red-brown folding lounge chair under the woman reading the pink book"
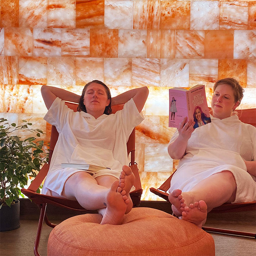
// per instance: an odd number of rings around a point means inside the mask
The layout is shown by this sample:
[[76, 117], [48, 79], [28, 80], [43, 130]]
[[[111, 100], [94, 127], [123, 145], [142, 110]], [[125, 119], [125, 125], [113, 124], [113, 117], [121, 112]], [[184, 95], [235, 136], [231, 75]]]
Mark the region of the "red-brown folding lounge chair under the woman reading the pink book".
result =
[[[252, 126], [256, 127], [256, 108], [238, 110], [237, 112], [238, 112], [238, 116], [240, 116], [239, 119], [242, 122], [251, 124]], [[150, 191], [156, 194], [157, 196], [160, 196], [161, 198], [165, 199], [167, 202], [169, 202], [169, 199], [168, 199], [169, 194], [166, 193], [166, 191], [169, 190], [170, 188], [170, 182], [173, 175], [174, 173], [172, 173], [172, 175], [159, 188], [156, 189], [151, 187]], [[245, 202], [245, 203], [234, 203], [234, 204], [225, 203], [219, 207], [213, 208], [211, 212], [227, 213], [227, 212], [244, 212], [244, 211], [250, 211], [250, 210], [254, 210], [254, 211], [256, 210], [256, 201]], [[211, 228], [207, 226], [203, 226], [202, 229], [207, 232], [256, 238], [256, 233], [251, 233], [251, 232]]]

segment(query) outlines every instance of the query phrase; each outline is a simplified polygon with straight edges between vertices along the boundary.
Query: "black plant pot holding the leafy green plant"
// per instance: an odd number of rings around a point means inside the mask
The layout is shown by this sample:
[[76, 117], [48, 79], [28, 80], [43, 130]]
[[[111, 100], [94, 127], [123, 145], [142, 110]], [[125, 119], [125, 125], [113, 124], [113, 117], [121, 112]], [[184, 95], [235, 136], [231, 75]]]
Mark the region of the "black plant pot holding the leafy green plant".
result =
[[11, 207], [6, 204], [0, 209], [0, 231], [8, 231], [20, 227], [20, 201], [11, 204]]

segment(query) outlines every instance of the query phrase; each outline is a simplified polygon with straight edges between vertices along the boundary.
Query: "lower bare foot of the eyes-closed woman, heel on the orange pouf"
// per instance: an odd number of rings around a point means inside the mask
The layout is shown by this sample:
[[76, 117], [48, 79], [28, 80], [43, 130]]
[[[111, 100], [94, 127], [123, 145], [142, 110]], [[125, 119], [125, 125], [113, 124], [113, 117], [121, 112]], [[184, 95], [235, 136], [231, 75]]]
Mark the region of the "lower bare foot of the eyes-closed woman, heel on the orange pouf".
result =
[[122, 224], [130, 199], [126, 195], [122, 195], [121, 191], [122, 188], [119, 187], [119, 181], [114, 181], [106, 197], [107, 208], [103, 215], [101, 224]]

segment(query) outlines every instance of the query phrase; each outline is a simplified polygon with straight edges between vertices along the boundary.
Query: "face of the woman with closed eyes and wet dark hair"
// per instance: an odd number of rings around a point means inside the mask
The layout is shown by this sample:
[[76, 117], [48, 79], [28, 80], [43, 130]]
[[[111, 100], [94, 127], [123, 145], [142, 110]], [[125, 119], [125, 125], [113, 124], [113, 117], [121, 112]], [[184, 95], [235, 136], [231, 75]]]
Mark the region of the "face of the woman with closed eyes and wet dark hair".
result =
[[87, 87], [84, 94], [84, 105], [87, 113], [94, 115], [94, 113], [102, 112], [103, 114], [109, 103], [110, 100], [107, 98], [103, 85], [92, 83]]

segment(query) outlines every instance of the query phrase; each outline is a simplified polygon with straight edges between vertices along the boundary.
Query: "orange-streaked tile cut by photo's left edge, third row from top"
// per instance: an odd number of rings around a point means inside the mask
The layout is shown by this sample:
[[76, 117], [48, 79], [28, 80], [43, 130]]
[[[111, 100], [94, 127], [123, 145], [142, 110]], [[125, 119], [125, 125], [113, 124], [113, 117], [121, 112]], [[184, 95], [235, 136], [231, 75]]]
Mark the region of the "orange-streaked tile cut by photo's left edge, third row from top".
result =
[[0, 84], [17, 84], [18, 57], [0, 56]]

